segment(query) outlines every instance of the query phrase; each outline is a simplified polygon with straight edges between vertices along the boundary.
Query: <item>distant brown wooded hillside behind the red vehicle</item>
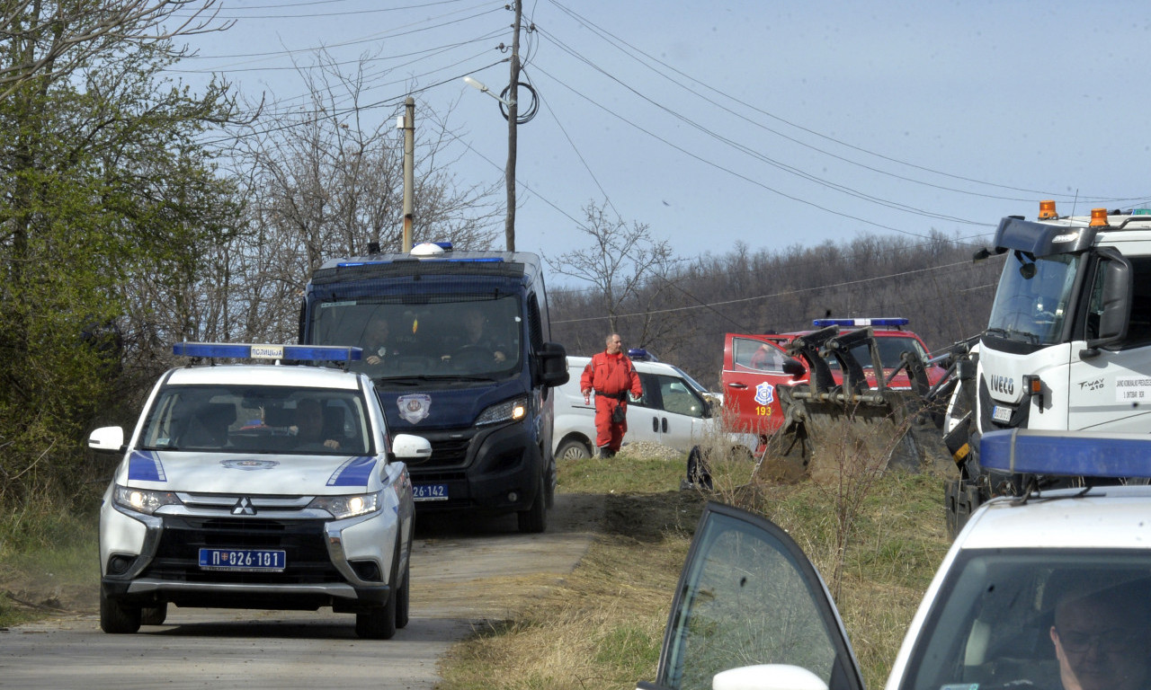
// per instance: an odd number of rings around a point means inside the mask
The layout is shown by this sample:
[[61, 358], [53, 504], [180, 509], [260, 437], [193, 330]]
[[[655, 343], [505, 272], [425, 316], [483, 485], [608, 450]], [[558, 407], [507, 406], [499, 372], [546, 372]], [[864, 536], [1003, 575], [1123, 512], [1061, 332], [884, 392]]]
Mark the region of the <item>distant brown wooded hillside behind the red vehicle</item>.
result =
[[[618, 238], [637, 229], [649, 237], [646, 227], [589, 224], [585, 231]], [[738, 244], [726, 254], [664, 256], [639, 278], [628, 273], [634, 266], [618, 269], [613, 292], [602, 284], [552, 290], [552, 338], [571, 354], [590, 354], [603, 347], [605, 334], [618, 331], [627, 347], [643, 347], [716, 391], [729, 332], [810, 330], [814, 319], [828, 316], [905, 316], [907, 328], [938, 351], [986, 324], [1003, 262], [973, 262], [980, 246], [930, 231], [923, 239], [866, 235], [807, 247]], [[640, 241], [632, 251], [646, 263], [650, 246]], [[572, 254], [552, 258], [552, 269], [576, 275], [572, 261]], [[625, 290], [619, 299], [605, 297]]]

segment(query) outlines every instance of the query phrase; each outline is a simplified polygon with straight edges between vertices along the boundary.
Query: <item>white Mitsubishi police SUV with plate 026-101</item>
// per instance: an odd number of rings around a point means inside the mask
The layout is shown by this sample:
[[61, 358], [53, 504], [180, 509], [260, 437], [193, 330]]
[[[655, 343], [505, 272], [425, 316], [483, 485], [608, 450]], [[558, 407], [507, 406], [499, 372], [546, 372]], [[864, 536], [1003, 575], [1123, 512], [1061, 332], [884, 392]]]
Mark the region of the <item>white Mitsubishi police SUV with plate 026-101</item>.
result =
[[[356, 614], [360, 637], [407, 624], [412, 485], [424, 438], [389, 437], [371, 379], [281, 361], [358, 348], [182, 343], [177, 355], [275, 360], [174, 368], [136, 429], [92, 432], [123, 453], [100, 508], [100, 627], [162, 623], [168, 604]], [[192, 360], [199, 361], [199, 360]]]

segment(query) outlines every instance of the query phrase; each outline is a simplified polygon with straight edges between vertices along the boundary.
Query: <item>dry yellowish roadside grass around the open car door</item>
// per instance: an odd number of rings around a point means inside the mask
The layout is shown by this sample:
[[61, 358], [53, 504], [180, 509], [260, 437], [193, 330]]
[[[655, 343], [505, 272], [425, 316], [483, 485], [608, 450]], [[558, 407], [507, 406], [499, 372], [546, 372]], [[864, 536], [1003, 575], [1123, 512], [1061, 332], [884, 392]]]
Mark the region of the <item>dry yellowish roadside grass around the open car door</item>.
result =
[[[607, 494], [605, 534], [562, 586], [498, 629], [457, 645], [442, 688], [631, 689], [653, 680], [679, 570], [708, 498], [754, 504], [830, 572], [838, 560], [837, 493], [809, 480], [752, 482], [752, 467], [714, 454], [710, 494], [668, 490], [678, 486], [684, 458], [620, 455], [562, 467], [562, 490]], [[948, 545], [942, 480], [889, 473], [860, 500], [837, 604], [864, 678], [878, 687]]]

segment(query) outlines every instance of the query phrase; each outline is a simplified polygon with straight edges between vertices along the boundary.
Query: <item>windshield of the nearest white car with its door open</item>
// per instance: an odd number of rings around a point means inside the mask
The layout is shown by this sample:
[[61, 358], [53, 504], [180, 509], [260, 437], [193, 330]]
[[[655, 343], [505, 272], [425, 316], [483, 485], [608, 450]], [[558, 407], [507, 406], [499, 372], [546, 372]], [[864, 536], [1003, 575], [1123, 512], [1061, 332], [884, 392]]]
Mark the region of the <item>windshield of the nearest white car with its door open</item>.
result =
[[1131, 662], [1146, 673], [1149, 601], [1148, 551], [963, 552], [916, 639], [900, 690], [1013, 683], [1060, 690], [1052, 627], [1070, 658], [1104, 654], [1115, 668]]

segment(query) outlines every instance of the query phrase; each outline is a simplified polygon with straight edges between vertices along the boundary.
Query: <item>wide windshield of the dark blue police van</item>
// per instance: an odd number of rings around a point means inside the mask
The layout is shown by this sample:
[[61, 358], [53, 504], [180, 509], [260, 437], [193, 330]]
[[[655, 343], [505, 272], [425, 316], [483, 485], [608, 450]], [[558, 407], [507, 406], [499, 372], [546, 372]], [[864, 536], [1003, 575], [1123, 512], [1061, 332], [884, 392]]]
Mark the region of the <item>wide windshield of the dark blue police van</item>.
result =
[[363, 347], [363, 360], [351, 368], [372, 378], [498, 378], [519, 370], [523, 317], [517, 297], [433, 299], [320, 302], [312, 312], [312, 343]]

